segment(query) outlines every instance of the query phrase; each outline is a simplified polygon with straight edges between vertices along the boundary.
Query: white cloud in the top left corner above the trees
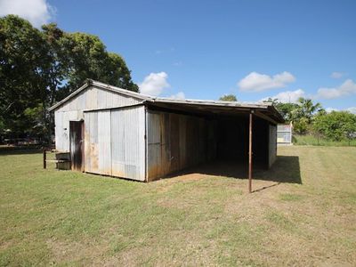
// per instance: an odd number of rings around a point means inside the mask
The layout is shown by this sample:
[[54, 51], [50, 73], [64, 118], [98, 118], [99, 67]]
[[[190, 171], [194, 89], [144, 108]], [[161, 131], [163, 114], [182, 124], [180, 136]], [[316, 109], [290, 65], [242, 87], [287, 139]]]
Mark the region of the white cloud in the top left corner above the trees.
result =
[[47, 0], [0, 0], [0, 16], [19, 15], [39, 28], [54, 16], [53, 6]]

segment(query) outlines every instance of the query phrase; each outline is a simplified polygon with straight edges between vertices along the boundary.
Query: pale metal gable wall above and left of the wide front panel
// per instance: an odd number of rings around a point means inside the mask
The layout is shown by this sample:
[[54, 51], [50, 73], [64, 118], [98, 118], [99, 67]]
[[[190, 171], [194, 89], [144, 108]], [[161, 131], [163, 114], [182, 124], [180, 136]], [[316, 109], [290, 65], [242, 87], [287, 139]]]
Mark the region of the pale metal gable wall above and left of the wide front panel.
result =
[[88, 87], [54, 112], [56, 149], [69, 151], [69, 120], [84, 119], [84, 110], [117, 108], [140, 102], [135, 98], [97, 88], [94, 85]]

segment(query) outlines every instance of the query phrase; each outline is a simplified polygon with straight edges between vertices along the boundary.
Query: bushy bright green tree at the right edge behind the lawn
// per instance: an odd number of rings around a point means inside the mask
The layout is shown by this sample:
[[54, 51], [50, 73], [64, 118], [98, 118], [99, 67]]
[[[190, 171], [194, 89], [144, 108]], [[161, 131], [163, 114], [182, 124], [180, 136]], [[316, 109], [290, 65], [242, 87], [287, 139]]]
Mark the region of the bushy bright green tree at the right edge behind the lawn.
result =
[[351, 139], [356, 134], [356, 115], [348, 111], [320, 114], [314, 118], [313, 129], [333, 141]]

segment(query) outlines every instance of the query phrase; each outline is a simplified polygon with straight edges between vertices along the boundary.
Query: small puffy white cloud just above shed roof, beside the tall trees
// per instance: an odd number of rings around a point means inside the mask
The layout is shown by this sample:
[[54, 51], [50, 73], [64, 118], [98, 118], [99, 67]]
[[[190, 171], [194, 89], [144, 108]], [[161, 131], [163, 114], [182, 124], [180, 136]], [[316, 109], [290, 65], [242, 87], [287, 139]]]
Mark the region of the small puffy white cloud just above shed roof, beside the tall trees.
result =
[[169, 88], [171, 86], [166, 81], [167, 78], [168, 75], [164, 71], [150, 73], [149, 76], [143, 79], [142, 84], [139, 84], [141, 93], [158, 96], [165, 88]]

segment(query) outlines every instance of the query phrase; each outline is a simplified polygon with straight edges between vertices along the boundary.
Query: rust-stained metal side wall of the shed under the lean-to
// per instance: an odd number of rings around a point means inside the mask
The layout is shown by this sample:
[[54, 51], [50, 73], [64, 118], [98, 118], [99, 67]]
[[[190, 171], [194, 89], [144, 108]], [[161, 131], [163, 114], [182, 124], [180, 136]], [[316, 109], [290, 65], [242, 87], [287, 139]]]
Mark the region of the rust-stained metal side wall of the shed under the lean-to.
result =
[[147, 178], [158, 178], [216, 157], [216, 122], [148, 110]]

